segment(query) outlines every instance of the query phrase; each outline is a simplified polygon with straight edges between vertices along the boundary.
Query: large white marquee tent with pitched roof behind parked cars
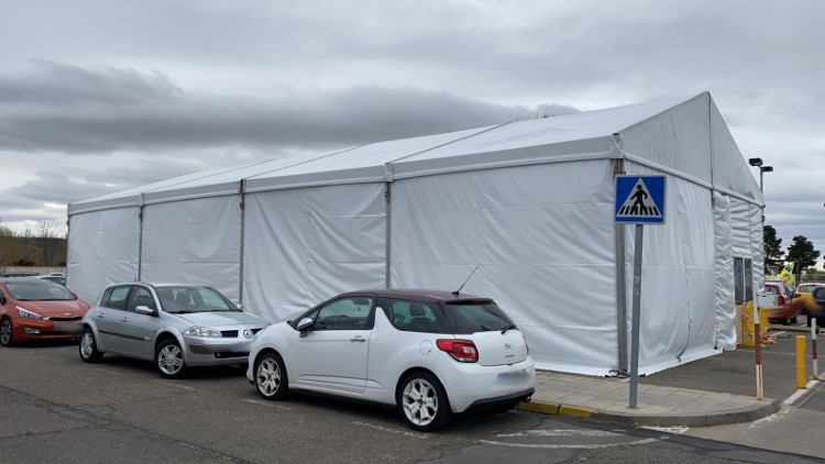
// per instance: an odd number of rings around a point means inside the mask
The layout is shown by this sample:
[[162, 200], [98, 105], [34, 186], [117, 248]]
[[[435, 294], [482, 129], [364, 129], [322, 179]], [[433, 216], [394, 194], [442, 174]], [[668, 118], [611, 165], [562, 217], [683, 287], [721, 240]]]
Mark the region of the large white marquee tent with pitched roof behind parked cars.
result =
[[610, 375], [629, 356], [625, 173], [668, 189], [666, 223], [645, 227], [639, 372], [735, 347], [735, 280], [762, 275], [762, 198], [706, 92], [78, 201], [68, 286], [91, 301], [116, 281], [208, 284], [274, 321], [345, 290], [454, 290], [480, 266], [462, 291], [496, 299], [540, 368]]

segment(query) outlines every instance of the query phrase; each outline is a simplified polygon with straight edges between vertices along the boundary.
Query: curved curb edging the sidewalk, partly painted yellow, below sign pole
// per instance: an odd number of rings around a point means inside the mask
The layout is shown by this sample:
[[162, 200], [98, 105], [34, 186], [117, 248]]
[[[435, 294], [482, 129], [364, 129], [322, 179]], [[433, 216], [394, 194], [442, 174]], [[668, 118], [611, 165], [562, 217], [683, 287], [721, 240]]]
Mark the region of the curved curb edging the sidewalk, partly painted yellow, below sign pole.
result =
[[752, 422], [779, 411], [781, 405], [782, 401], [778, 399], [767, 398], [765, 404], [760, 405], [758, 408], [738, 408], [714, 413], [683, 416], [630, 415], [593, 410], [580, 406], [560, 405], [549, 401], [520, 402], [518, 409], [544, 415], [591, 418], [622, 423], [625, 426], [710, 427], [726, 423]]

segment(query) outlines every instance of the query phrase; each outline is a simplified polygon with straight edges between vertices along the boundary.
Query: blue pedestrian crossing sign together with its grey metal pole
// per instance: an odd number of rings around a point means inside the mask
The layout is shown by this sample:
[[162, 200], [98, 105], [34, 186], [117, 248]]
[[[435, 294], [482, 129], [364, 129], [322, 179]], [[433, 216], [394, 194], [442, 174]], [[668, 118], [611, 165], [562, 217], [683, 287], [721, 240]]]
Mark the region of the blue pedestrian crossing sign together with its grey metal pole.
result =
[[636, 224], [634, 236], [634, 306], [630, 329], [630, 408], [636, 408], [639, 387], [639, 319], [641, 317], [644, 227], [645, 224], [664, 223], [664, 176], [616, 177], [616, 223]]

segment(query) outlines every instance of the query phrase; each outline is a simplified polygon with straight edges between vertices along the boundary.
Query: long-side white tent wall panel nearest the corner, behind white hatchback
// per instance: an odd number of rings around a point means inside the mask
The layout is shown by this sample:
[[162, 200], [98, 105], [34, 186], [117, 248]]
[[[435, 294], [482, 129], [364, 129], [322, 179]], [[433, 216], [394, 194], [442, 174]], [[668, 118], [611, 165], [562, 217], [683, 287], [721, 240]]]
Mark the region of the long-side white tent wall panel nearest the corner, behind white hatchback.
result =
[[[394, 288], [493, 297], [541, 368], [605, 375], [616, 363], [608, 161], [393, 183]], [[586, 285], [587, 291], [572, 291]]]

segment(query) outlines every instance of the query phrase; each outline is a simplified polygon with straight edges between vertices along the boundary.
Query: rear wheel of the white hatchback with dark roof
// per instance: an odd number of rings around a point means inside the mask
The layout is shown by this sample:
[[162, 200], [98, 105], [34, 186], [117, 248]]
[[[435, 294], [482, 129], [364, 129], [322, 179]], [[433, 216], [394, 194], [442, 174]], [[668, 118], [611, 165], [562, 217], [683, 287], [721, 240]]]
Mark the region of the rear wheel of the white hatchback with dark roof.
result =
[[402, 380], [396, 405], [407, 427], [419, 432], [440, 430], [452, 417], [444, 387], [427, 372], [414, 372]]

